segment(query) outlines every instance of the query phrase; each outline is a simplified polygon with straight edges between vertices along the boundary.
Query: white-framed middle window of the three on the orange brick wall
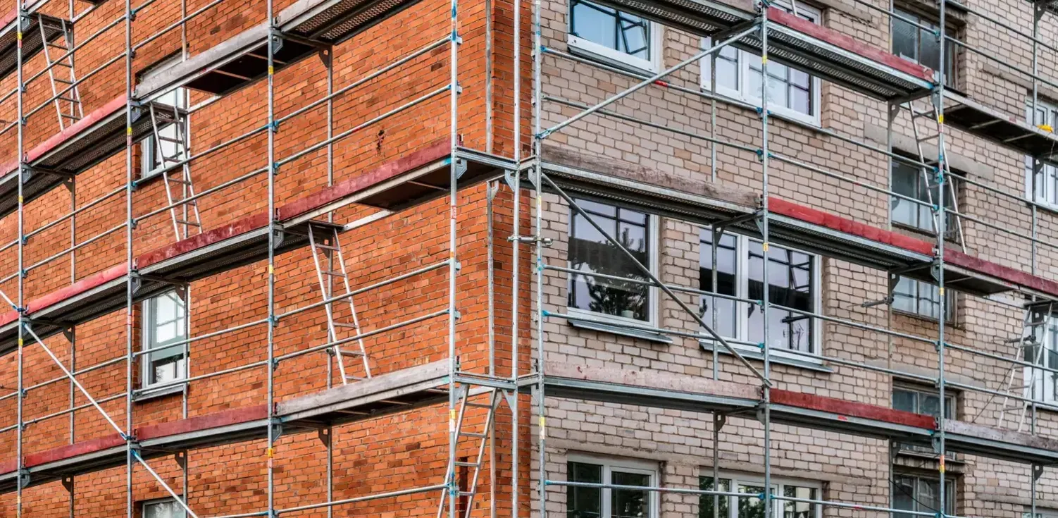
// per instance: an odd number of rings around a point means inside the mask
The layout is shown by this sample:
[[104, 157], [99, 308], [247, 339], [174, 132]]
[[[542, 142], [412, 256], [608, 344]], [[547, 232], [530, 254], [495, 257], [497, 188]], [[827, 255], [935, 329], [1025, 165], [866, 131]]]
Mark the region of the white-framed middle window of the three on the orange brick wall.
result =
[[187, 314], [176, 291], [143, 302], [143, 386], [183, 379]]

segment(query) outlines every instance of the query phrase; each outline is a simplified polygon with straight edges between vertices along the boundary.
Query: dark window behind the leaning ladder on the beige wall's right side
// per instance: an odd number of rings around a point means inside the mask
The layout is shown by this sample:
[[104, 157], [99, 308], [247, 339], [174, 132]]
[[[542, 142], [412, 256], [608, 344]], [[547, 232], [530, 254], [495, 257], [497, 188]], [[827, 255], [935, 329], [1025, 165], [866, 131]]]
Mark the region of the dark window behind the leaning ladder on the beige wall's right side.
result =
[[[892, 172], [893, 192], [923, 202], [915, 203], [914, 201], [893, 196], [890, 211], [893, 224], [936, 235], [933, 206], [941, 199], [941, 189], [938, 185], [932, 184], [933, 174], [929, 173], [930, 178], [927, 178], [923, 175], [922, 167], [900, 160], [893, 160]], [[948, 181], [953, 183], [944, 192], [944, 207], [954, 211], [955, 199], [953, 194], [959, 193], [959, 180], [955, 178], [955, 175], [949, 175]], [[945, 236], [948, 238], [957, 237], [957, 218], [950, 213], [945, 213]]]

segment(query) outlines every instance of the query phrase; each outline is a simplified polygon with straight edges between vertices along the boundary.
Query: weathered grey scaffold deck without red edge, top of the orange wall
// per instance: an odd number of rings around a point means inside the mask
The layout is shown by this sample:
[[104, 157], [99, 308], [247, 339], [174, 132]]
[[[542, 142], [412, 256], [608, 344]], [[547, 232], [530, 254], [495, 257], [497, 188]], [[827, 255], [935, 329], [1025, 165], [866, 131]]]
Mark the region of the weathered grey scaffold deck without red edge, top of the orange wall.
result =
[[[419, 0], [300, 0], [279, 12], [272, 38], [274, 71], [287, 68], [332, 43], [384, 20]], [[149, 77], [132, 97], [156, 99], [177, 87], [226, 95], [269, 73], [272, 28], [261, 23]]]

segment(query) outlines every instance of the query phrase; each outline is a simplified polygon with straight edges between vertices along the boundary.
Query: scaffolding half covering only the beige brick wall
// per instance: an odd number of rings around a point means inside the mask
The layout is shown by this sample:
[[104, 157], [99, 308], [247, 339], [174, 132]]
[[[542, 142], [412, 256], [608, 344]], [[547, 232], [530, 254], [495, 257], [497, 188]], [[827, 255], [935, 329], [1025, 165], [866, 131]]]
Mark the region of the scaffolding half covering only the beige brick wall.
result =
[[[937, 2], [940, 14], [936, 28], [918, 23], [899, 14], [890, 3], [888, 7], [879, 7], [864, 0], [856, 0], [857, 7], [869, 13], [880, 13], [890, 23], [899, 20], [913, 25], [915, 31], [923, 31], [923, 38], [935, 40], [940, 49], [938, 61], [942, 66], [931, 70], [916, 62], [911, 62], [886, 50], [874, 48], [863, 41], [840, 34], [834, 30], [817, 25], [798, 16], [797, 2], [790, 2], [789, 10], [776, 7], [767, 0], [753, 2], [750, 6], [737, 6], [737, 2], [695, 1], [678, 2], [668, 0], [602, 0], [602, 4], [628, 13], [650, 21], [675, 28], [701, 38], [709, 38], [700, 52], [664, 68], [654, 74], [632, 72], [626, 69], [599, 64], [585, 59], [572, 53], [563, 52], [548, 47], [542, 36], [542, 2], [533, 2], [533, 129], [532, 157], [525, 162], [522, 183], [532, 190], [535, 200], [533, 209], [532, 235], [527, 238], [534, 246], [537, 267], [534, 274], [534, 300], [536, 307], [534, 319], [541, 322], [535, 340], [536, 371], [523, 377], [523, 390], [533, 394], [534, 412], [539, 416], [535, 427], [536, 453], [540, 456], [539, 470], [535, 474], [535, 510], [545, 516], [548, 503], [561, 492], [577, 487], [598, 489], [625, 489], [643, 492], [652, 499], [661, 494], [694, 495], [699, 498], [713, 499], [714, 513], [720, 506], [718, 498], [759, 499], [764, 512], [762, 516], [772, 514], [776, 505], [789, 502], [813, 504], [823, 508], [853, 510], [869, 513], [894, 514], [906, 516], [956, 516], [954, 508], [941, 508], [934, 512], [914, 512], [895, 508], [890, 505], [868, 505], [857, 501], [837, 501], [833, 499], [805, 499], [774, 493], [773, 460], [774, 448], [772, 440], [773, 425], [792, 425], [811, 430], [833, 431], [846, 436], [872, 437], [890, 441], [892, 449], [900, 445], [918, 445], [929, 451], [929, 458], [935, 462], [935, 480], [938, 486], [938, 501], [946, 498], [946, 460], [949, 452], [963, 452], [989, 459], [1000, 459], [1025, 465], [1030, 480], [1029, 495], [1026, 500], [1030, 505], [1029, 516], [1037, 516], [1037, 498], [1040, 477], [1045, 466], [1054, 464], [1055, 448], [1058, 442], [1039, 434], [1037, 410], [1053, 409], [1053, 405], [1044, 401], [1042, 395], [1042, 377], [1055, 373], [1040, 360], [1043, 349], [1042, 327], [1052, 318], [1053, 304], [1058, 298], [1058, 284], [1046, 279], [1047, 270], [1040, 267], [1040, 249], [1054, 249], [1055, 244], [1040, 237], [1039, 210], [1042, 208], [1035, 197], [1038, 191], [1040, 172], [1045, 164], [1054, 163], [1055, 144], [1058, 138], [1040, 119], [1036, 109], [1039, 104], [1041, 85], [1054, 85], [1040, 73], [1040, 52], [1042, 49], [1055, 49], [1040, 38], [1041, 20], [1048, 12], [1046, 2], [1026, 2], [1021, 5], [1030, 10], [1033, 19], [1032, 34], [1020, 31], [1009, 23], [990, 17], [987, 14], [954, 1]], [[1030, 42], [1032, 70], [1023, 70], [1001, 58], [982, 51], [973, 46], [948, 34], [949, 10], [957, 10], [965, 16], [973, 16], [982, 23], [998, 28], [1011, 38], [1023, 38]], [[890, 33], [892, 34], [892, 32]], [[948, 43], [951, 43], [949, 46]], [[719, 51], [726, 47], [734, 47], [761, 55], [762, 86], [759, 93], [759, 104], [747, 103], [716, 94], [716, 58]], [[974, 55], [982, 60], [998, 64], [1004, 70], [1028, 77], [1030, 81], [1032, 99], [1028, 104], [1027, 118], [1010, 117], [1000, 110], [992, 109], [978, 101], [955, 92], [950, 88], [946, 77], [946, 52], [957, 49], [959, 52]], [[613, 76], [627, 79], [626, 88], [614, 87], [603, 99], [595, 104], [582, 103], [560, 95], [545, 94], [541, 83], [544, 74], [545, 59], [549, 64], [572, 61], [591, 70], [603, 70]], [[694, 64], [706, 64], [711, 72], [703, 78], [704, 85], [698, 88], [687, 88], [678, 81], [670, 81], [670, 76]], [[808, 126], [794, 118], [784, 117], [772, 111], [769, 106], [768, 82], [776, 81], [769, 75], [768, 66], [779, 62], [788, 67], [810, 73], [842, 89], [853, 91], [865, 97], [883, 103], [882, 110], [887, 127], [887, 145], [884, 147], [857, 140], [842, 135], [840, 131], [825, 127]], [[561, 68], [561, 67], [560, 67]], [[750, 71], [749, 73], [754, 73]], [[632, 117], [627, 110], [614, 109], [621, 100], [646, 89], [658, 89], [664, 92], [681, 94], [682, 97], [699, 100], [710, 113], [709, 132], [701, 133], [683, 129], [679, 124], [659, 123], [645, 117]], [[693, 101], [691, 101], [693, 102]], [[754, 143], [747, 145], [744, 141], [720, 133], [717, 130], [717, 105], [729, 105], [736, 108], [753, 110], [760, 121], [760, 130]], [[544, 112], [545, 106], [554, 106], [557, 110], [551, 117]], [[663, 108], [661, 108], [663, 109]], [[898, 154], [894, 149], [894, 128], [898, 119], [906, 117], [909, 128], [913, 132], [913, 145], [918, 156], [911, 158]], [[651, 128], [659, 133], [679, 136], [690, 141], [701, 142], [709, 147], [710, 181], [687, 180], [676, 178], [660, 171], [644, 172], [637, 164], [612, 160], [609, 157], [581, 153], [576, 144], [563, 143], [549, 145], [553, 136], [576, 125], [585, 118], [609, 119], [621, 125], [634, 128]], [[777, 125], [774, 120], [780, 120]], [[1027, 120], [1026, 120], [1027, 119]], [[928, 127], [923, 131], [919, 124]], [[776, 153], [770, 143], [773, 132], [782, 127], [809, 127], [817, 135], [851, 144], [861, 149], [868, 156], [880, 156], [892, 171], [893, 162], [900, 162], [920, 171], [925, 184], [931, 191], [927, 200], [909, 197], [896, 192], [892, 184], [877, 184], [865, 181], [861, 176], [849, 171], [836, 171], [810, 163], [810, 159], [785, 156]], [[949, 128], [963, 131], [972, 139], [981, 139], [999, 144], [1003, 148], [1032, 157], [1032, 184], [1028, 194], [1011, 192], [1001, 185], [956, 177], [951, 171], [949, 154], [946, 151]], [[580, 128], [584, 131], [583, 128]], [[932, 155], [925, 153], [924, 143], [935, 148]], [[760, 173], [760, 184], [752, 190], [729, 189], [717, 183], [718, 148], [729, 149], [731, 154], [742, 153], [753, 157], [759, 164], [754, 173]], [[639, 154], [640, 151], [635, 151]], [[748, 161], [746, 161], [748, 162]], [[907, 234], [895, 232], [889, 228], [877, 228], [847, 217], [831, 214], [824, 211], [804, 207], [772, 194], [772, 169], [776, 162], [804, 172], [813, 180], [836, 180], [839, 192], [852, 195], [854, 192], [867, 192], [884, 197], [887, 200], [899, 200], [912, 203], [916, 211], [918, 207], [926, 209], [932, 218], [931, 230], [934, 242], [927, 242]], [[745, 163], [745, 162], [743, 162]], [[847, 163], [847, 162], [846, 162]], [[735, 165], [737, 167], [737, 165]], [[1017, 229], [1003, 225], [1004, 221], [989, 221], [989, 218], [970, 215], [961, 211], [954, 199], [946, 202], [946, 198], [954, 197], [953, 182], [964, 182], [968, 189], [977, 190], [986, 199], [1008, 199], [1024, 207], [1030, 217], [1030, 231], [1019, 232]], [[934, 191], [935, 189], [935, 191]], [[859, 190], [859, 191], [855, 191]], [[545, 253], [547, 243], [544, 236], [548, 230], [542, 220], [547, 203], [545, 196], [552, 196], [557, 206], [567, 208], [570, 218], [580, 217], [580, 221], [590, 225], [595, 235], [604, 238], [607, 246], [616, 250], [622, 260], [630, 265], [636, 278], [617, 276], [583, 268], [567, 268], [554, 264], [553, 258]], [[577, 198], [574, 198], [574, 196]], [[935, 198], [934, 198], [935, 197]], [[636, 258], [628, 247], [621, 243], [617, 235], [607, 233], [592, 216], [585, 211], [578, 199], [601, 201], [617, 207], [628, 208], [645, 214], [656, 214], [663, 217], [688, 221], [699, 226], [704, 232], [711, 232], [711, 245], [703, 243], [700, 253], [711, 253], [712, 281], [711, 288], [695, 286], [678, 286], [661, 282], [656, 272]], [[988, 229], [997, 233], [1013, 235], [1028, 243], [1030, 249], [1029, 271], [1000, 265], [974, 256], [971, 247], [966, 244], [964, 227]], [[762, 289], [761, 300], [734, 297], [722, 292], [717, 284], [717, 248], [719, 236], [725, 232], [748, 235], [760, 240], [763, 255], [759, 281]], [[867, 302], [862, 307], [884, 306], [888, 323], [884, 326], [856, 321], [850, 318], [837, 318], [825, 315], [822, 310], [809, 311], [777, 303], [769, 300], [769, 245], [796, 247], [820, 254], [824, 257], [837, 258], [853, 265], [880, 270], [889, 279], [889, 290], [880, 301]], [[774, 252], [772, 252], [774, 253]], [[1043, 275], [1041, 276], [1041, 273]], [[582, 275], [595, 281], [620, 281], [626, 285], [638, 284], [643, 289], [656, 289], [659, 297], [665, 297], [686, 312], [689, 321], [693, 320], [700, 331], [689, 333], [685, 329], [642, 324], [625, 323], [606, 319], [596, 319], [572, 311], [565, 312], [563, 308], [549, 305], [545, 298], [545, 283], [551, 279], [562, 279], [562, 275]], [[934, 336], [920, 336], [892, 328], [893, 290], [900, 278], [914, 279], [937, 287], [937, 315]], [[703, 282], [703, 285], [706, 283]], [[569, 289], [573, 289], [570, 287]], [[1003, 349], [1006, 353], [997, 354], [983, 347], [968, 347], [951, 343], [946, 339], [947, 297], [946, 290], [957, 290], [971, 297], [979, 297], [995, 307], [1007, 306], [1024, 311], [1023, 329], [1015, 338], [1006, 340]], [[663, 296], [662, 296], [663, 293]], [[1003, 302], [996, 296], [1007, 293], [1011, 299]], [[827, 326], [845, 327], [862, 332], [864, 335], [882, 337], [889, 343], [888, 359], [884, 367], [865, 361], [854, 361], [838, 355], [824, 355], [814, 352], [783, 349], [788, 355], [822, 361], [841, 368], [850, 368], [859, 372], [876, 372], [883, 375], [915, 380], [933, 386], [941, 401], [945, 400], [946, 392], [952, 390], [965, 393], [981, 394], [986, 399], [971, 421], [959, 421], [953, 415], [946, 415], [940, 410], [937, 415], [922, 415], [891, 409], [889, 406], [868, 405], [864, 403], [824, 397], [814, 393], [802, 393], [795, 390], [783, 390], [777, 387], [773, 377], [774, 345], [769, 337], [769, 325], [763, 325], [763, 340], [749, 342], [722, 336], [717, 328], [716, 304], [710, 303], [709, 310], [692, 308], [680, 297], [689, 296], [712, 298], [713, 301], [726, 300], [734, 304], [744, 304], [759, 308], [763, 312], [763, 322], [772, 322], [769, 311], [784, 311], [799, 318], [807, 318], [823, 322]], [[704, 312], [703, 312], [704, 311]], [[673, 336], [693, 338], [703, 343], [711, 344], [712, 376], [709, 378], [658, 373], [650, 369], [628, 370], [627, 368], [606, 368], [586, 365], [569, 365], [562, 361], [549, 361], [545, 345], [544, 323], [548, 321], [569, 322], [572, 324], [604, 325], [608, 328], [623, 328], [635, 334], [652, 334], [654, 336]], [[588, 328], [591, 328], [590, 325]], [[596, 327], [598, 328], [598, 327]], [[1050, 331], [1047, 331], [1050, 332]], [[931, 360], [932, 374], [899, 370], [891, 364], [893, 342], [905, 341], [926, 344], [935, 349]], [[736, 347], [742, 345], [743, 347]], [[747, 347], [760, 351], [760, 357], [754, 363], [746, 357]], [[720, 353], [729, 354], [733, 361], [722, 363]], [[969, 358], [997, 361], [1008, 369], [1006, 382], [1001, 387], [978, 387], [959, 382], [946, 375], [946, 356], [951, 352], [962, 353]], [[1032, 353], [1032, 354], [1030, 354]], [[720, 367], [726, 365], [740, 375], [747, 375], [753, 381], [750, 383], [720, 380]], [[759, 369], [762, 367], [763, 369]], [[1023, 376], [1022, 376], [1023, 375]], [[730, 379], [731, 376], [728, 376]], [[742, 376], [746, 377], [746, 376]], [[1025, 386], [1020, 386], [1020, 379], [1025, 379]], [[591, 400], [610, 404], [635, 405], [646, 408], [676, 409], [703, 413], [712, 413], [712, 485], [706, 489], [700, 487], [665, 485], [621, 485], [603, 480], [604, 483], [592, 483], [573, 480], [557, 480], [554, 474], [547, 468], [548, 433], [545, 404], [547, 397]], [[1000, 408], [997, 408], [997, 405]], [[997, 425], [981, 425], [975, 421], [986, 410], [999, 415]], [[722, 489], [719, 482], [719, 461], [717, 451], [720, 447], [720, 430], [728, 416], [745, 416], [759, 421], [763, 427], [763, 484], [762, 493], [732, 493]], [[740, 429], [740, 431], [742, 431]], [[748, 433], [748, 432], [747, 432]], [[704, 442], [708, 442], [705, 440]], [[707, 443], [708, 444], [708, 443]], [[706, 447], [707, 449], [709, 446]], [[920, 450], [919, 450], [920, 451]], [[553, 464], [553, 463], [552, 463]], [[705, 470], [704, 470], [705, 474]], [[704, 475], [703, 478], [708, 478]], [[655, 500], [656, 501], [656, 500]], [[745, 501], [745, 500], [743, 500]], [[716, 516], [714, 514], [714, 516]]]

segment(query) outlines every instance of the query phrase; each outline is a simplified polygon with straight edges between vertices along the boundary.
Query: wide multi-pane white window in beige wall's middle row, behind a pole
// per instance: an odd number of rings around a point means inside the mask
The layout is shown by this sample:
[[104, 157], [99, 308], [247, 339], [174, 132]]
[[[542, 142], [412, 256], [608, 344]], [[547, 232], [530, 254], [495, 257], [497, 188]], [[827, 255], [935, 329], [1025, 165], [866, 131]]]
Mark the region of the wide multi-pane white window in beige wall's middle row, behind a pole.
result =
[[[713, 291], [712, 230], [701, 229], [698, 254], [698, 283], [703, 291]], [[763, 300], [764, 252], [761, 242], [746, 236], [724, 234], [716, 247], [716, 292], [743, 299]], [[768, 288], [771, 304], [818, 312], [819, 257], [772, 245], [768, 252]], [[703, 296], [701, 320], [711, 325], [712, 306], [716, 305], [714, 331], [725, 338], [753, 343], [764, 341], [763, 311], [759, 304]], [[772, 307], [768, 310], [770, 346], [783, 350], [816, 352], [816, 321], [799, 312]], [[800, 357], [800, 359], [809, 359]]]

